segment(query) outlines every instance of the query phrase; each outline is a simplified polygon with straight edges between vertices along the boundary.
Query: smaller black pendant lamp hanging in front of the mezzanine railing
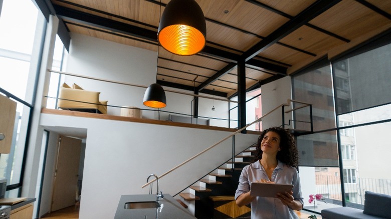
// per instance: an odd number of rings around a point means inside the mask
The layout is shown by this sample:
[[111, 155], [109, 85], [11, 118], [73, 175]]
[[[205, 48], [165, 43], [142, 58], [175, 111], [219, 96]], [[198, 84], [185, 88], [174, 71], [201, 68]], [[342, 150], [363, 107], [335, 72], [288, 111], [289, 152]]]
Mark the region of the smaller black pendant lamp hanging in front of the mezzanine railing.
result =
[[165, 92], [158, 83], [152, 83], [144, 93], [144, 105], [152, 108], [164, 108], [166, 106]]

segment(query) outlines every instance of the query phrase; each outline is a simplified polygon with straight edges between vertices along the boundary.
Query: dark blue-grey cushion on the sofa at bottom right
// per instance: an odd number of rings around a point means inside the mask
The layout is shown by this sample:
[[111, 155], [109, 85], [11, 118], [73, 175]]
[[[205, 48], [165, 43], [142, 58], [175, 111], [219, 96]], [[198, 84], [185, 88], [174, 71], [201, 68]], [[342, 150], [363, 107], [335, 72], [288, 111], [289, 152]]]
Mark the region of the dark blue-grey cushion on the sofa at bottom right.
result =
[[363, 213], [391, 218], [391, 195], [365, 191]]

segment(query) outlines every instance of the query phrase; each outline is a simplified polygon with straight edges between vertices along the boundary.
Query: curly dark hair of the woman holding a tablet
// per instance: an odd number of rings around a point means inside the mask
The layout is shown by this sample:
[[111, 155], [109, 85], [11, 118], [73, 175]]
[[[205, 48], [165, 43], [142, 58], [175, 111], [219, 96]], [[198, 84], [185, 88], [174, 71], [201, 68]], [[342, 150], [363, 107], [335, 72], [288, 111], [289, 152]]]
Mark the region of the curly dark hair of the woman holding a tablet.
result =
[[296, 147], [296, 141], [289, 130], [282, 127], [270, 127], [262, 132], [261, 136], [258, 137], [257, 149], [253, 162], [262, 158], [263, 151], [261, 150], [261, 141], [269, 131], [273, 131], [280, 135], [281, 150], [277, 152], [277, 159], [289, 166], [297, 168], [299, 165], [299, 151]]

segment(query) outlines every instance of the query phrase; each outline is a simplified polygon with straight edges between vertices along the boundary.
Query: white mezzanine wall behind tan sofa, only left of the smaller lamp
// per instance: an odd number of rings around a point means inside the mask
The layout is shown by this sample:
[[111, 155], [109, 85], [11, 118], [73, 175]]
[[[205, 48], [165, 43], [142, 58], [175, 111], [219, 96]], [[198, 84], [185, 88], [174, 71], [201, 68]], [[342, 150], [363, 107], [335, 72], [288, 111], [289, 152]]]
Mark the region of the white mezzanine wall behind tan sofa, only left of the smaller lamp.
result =
[[[156, 82], [157, 53], [95, 37], [72, 34], [65, 71], [101, 79], [148, 86]], [[66, 76], [65, 81], [83, 89], [100, 91], [100, 100], [109, 105], [142, 107], [146, 88]], [[108, 107], [108, 114], [119, 115], [120, 108]], [[143, 112], [148, 118], [153, 112]]]

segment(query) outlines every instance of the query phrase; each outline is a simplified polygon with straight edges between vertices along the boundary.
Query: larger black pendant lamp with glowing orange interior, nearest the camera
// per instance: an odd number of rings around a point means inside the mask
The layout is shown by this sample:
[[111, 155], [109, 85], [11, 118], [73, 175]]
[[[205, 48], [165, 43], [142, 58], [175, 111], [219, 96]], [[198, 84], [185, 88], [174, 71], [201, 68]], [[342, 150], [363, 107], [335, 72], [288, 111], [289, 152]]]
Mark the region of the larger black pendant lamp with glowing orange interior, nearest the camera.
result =
[[157, 40], [167, 51], [178, 55], [200, 52], [206, 43], [207, 24], [195, 0], [171, 0], [164, 8]]

